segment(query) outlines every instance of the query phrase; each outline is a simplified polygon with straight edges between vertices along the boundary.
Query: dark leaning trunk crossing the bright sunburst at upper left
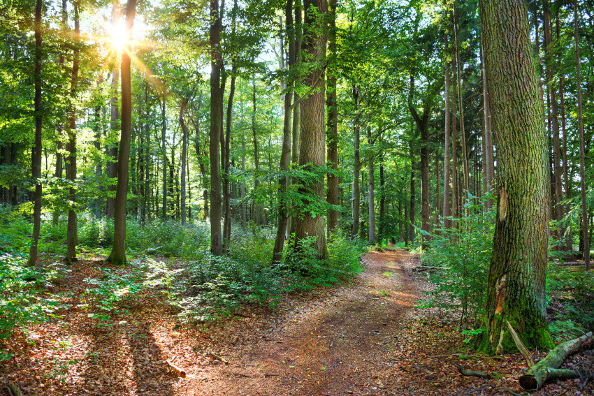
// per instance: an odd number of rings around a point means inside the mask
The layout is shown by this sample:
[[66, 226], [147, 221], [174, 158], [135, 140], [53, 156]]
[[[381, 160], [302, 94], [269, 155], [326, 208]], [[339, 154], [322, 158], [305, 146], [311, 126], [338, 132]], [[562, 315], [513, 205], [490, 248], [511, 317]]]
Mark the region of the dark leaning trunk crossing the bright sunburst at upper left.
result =
[[132, 92], [130, 63], [132, 54], [132, 27], [136, 14], [136, 0], [126, 6], [126, 45], [122, 51], [122, 135], [117, 152], [117, 186], [113, 221], [113, 247], [107, 261], [113, 264], [126, 262], [126, 198], [128, 195], [128, 160], [132, 137]]

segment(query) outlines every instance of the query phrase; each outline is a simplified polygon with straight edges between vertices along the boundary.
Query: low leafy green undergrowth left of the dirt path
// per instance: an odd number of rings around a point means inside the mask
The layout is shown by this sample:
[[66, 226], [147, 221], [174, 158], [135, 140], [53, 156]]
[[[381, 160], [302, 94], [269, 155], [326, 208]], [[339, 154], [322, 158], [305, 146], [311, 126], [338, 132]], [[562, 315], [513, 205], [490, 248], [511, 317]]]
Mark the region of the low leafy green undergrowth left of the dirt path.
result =
[[[52, 281], [70, 276], [71, 270], [60, 263], [66, 251], [65, 219], [54, 225], [51, 214], [45, 214], [38, 267], [25, 265], [32, 230], [26, 215], [3, 212], [0, 223], [0, 358], [10, 358], [2, 354], [1, 346], [16, 329], [57, 317], [56, 310], [65, 307], [59, 303], [64, 296], [48, 290]], [[105, 258], [113, 242], [112, 221], [86, 212], [79, 217], [78, 230], [80, 258]], [[97, 262], [94, 269], [102, 274], [84, 279], [86, 289], [78, 308], [87, 310], [94, 325], [111, 326], [126, 321], [141, 295], [162, 293], [180, 321], [202, 323], [245, 304], [275, 306], [284, 293], [330, 286], [361, 270], [363, 246], [339, 234], [328, 241], [327, 259], [316, 258], [312, 240], [303, 240], [296, 248], [286, 242], [282, 263], [273, 267], [274, 235], [269, 228], [233, 224], [228, 254], [215, 257], [210, 254], [208, 223], [142, 225], [129, 218], [129, 262], [119, 267]]]

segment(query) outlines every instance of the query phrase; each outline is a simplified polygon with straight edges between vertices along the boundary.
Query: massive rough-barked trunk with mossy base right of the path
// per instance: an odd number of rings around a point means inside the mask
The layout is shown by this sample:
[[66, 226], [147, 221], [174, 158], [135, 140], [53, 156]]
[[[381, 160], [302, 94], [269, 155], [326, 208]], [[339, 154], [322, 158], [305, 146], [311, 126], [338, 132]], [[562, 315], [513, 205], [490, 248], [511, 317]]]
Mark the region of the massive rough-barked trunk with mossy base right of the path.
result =
[[546, 134], [526, 3], [481, 0], [486, 80], [498, 147], [498, 210], [484, 313], [487, 352], [551, 349], [544, 284], [549, 237]]

